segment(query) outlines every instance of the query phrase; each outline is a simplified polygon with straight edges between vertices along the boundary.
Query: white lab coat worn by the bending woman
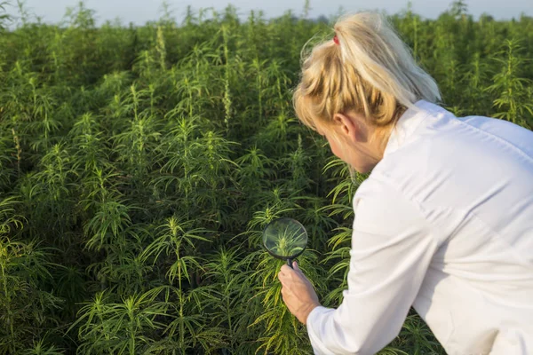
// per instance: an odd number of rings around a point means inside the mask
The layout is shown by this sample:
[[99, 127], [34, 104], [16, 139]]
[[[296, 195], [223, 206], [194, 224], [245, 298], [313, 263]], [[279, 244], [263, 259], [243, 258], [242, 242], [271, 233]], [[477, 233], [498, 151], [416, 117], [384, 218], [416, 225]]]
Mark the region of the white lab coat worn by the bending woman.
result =
[[315, 354], [373, 354], [413, 305], [449, 354], [533, 354], [533, 132], [420, 100], [354, 196], [348, 289]]

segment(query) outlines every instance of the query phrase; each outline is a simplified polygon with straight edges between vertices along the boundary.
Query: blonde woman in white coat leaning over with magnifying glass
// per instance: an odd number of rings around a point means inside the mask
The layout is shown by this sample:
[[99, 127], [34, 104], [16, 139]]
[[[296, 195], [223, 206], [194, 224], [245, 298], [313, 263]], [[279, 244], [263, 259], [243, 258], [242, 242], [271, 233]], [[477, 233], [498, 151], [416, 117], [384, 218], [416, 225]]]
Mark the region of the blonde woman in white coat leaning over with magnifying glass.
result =
[[533, 132], [435, 103], [386, 21], [358, 13], [314, 47], [298, 118], [370, 177], [354, 196], [348, 288], [322, 307], [295, 264], [278, 277], [316, 354], [372, 354], [414, 306], [449, 354], [533, 354]]

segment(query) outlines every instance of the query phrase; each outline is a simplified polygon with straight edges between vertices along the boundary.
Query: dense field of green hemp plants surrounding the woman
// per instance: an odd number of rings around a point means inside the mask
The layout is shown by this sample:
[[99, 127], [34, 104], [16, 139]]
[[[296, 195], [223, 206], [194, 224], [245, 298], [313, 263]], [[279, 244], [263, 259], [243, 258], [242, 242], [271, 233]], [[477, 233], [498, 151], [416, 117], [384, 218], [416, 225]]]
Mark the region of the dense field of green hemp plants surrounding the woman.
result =
[[[322, 304], [346, 289], [366, 176], [298, 123], [299, 54], [325, 20], [168, 4], [145, 26], [9, 29], [0, 1], [0, 354], [310, 354], [261, 248], [293, 217]], [[390, 17], [456, 114], [533, 126], [533, 20]], [[411, 312], [381, 354], [444, 353]]]

